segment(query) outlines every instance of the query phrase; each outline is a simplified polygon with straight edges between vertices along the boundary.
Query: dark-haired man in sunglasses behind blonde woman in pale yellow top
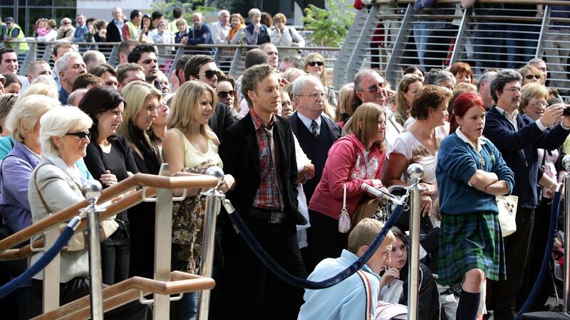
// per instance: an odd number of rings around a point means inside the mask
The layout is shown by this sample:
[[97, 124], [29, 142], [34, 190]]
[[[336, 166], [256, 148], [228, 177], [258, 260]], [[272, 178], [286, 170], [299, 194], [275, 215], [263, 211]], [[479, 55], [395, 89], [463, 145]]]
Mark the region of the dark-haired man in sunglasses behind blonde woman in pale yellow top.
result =
[[[193, 55], [184, 66], [185, 81], [197, 80], [204, 82], [216, 90], [218, 77], [221, 75], [214, 58], [209, 55]], [[182, 85], [182, 83], [180, 83]], [[214, 108], [214, 114], [209, 118], [208, 125], [210, 129], [217, 135], [218, 139], [222, 141], [224, 130], [234, 124], [234, 117], [232, 117], [232, 110], [229, 110], [227, 105], [218, 102]]]

